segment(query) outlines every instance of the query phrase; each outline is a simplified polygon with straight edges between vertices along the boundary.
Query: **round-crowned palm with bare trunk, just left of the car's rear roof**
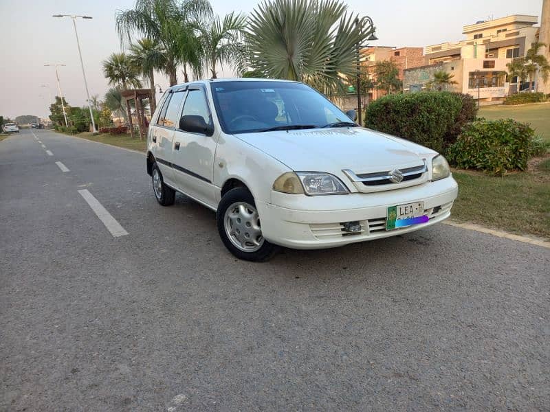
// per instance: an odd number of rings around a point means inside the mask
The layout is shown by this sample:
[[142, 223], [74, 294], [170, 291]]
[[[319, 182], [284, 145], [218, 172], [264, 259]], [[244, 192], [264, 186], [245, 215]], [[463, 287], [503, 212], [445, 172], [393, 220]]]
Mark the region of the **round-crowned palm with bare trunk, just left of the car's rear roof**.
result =
[[159, 43], [150, 38], [140, 38], [130, 45], [129, 51], [131, 64], [140, 71], [151, 88], [151, 111], [155, 111], [155, 69], [162, 69], [166, 65], [166, 54]]

